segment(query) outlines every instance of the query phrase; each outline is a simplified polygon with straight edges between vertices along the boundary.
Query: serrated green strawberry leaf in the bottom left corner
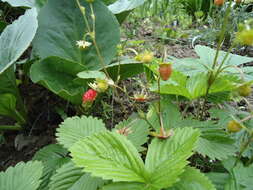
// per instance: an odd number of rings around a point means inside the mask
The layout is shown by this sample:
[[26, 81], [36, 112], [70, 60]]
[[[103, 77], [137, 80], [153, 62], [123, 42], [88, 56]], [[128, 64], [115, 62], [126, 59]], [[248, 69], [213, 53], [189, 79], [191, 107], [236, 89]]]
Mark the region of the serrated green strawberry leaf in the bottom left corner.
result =
[[40, 185], [43, 166], [40, 162], [18, 163], [0, 172], [1, 190], [36, 190]]

